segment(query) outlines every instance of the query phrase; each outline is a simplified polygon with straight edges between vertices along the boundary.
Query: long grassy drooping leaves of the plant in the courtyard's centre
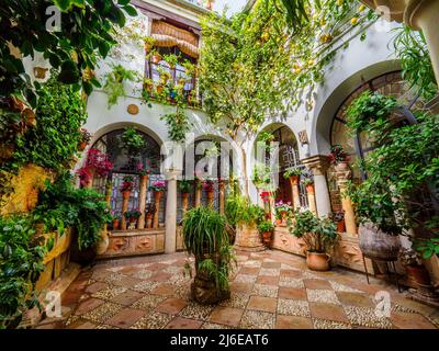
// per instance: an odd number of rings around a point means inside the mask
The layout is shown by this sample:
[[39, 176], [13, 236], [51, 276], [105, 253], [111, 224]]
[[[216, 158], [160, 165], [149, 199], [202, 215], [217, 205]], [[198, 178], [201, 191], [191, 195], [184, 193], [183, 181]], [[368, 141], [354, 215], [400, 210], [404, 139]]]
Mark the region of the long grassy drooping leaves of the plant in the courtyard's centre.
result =
[[228, 290], [235, 261], [225, 226], [224, 216], [203, 206], [188, 211], [183, 219], [184, 246], [195, 257], [196, 274], [212, 279], [217, 293]]

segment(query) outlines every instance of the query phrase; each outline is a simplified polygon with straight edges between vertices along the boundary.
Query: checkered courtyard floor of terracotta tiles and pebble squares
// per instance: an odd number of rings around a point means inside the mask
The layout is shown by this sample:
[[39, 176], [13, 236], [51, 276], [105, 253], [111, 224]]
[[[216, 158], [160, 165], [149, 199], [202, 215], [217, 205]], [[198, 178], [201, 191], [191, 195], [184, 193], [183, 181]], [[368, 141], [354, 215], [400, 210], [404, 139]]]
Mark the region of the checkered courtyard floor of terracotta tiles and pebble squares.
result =
[[[237, 252], [232, 298], [201, 306], [190, 301], [184, 253], [99, 263], [63, 296], [63, 318], [37, 328], [439, 328], [439, 312], [394, 286], [342, 269], [313, 272], [303, 258], [269, 250]], [[390, 316], [376, 314], [375, 293], [387, 291]]]

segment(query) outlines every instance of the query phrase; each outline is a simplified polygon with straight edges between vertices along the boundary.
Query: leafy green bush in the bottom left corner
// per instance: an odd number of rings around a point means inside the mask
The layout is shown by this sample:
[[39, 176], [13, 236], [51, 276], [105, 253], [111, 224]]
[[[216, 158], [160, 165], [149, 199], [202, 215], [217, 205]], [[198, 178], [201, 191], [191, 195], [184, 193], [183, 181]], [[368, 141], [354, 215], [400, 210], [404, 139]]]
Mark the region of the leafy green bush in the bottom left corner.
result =
[[33, 287], [45, 252], [30, 217], [0, 217], [0, 329], [16, 327], [22, 314], [37, 305]]

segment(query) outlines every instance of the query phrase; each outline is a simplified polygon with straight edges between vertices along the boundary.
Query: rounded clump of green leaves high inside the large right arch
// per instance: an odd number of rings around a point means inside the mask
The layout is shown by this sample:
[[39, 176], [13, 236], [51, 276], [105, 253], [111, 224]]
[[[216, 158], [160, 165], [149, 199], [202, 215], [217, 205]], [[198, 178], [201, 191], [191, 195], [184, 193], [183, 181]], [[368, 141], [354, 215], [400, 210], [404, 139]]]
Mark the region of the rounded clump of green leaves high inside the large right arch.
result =
[[389, 123], [398, 106], [396, 100], [370, 90], [358, 97], [347, 110], [347, 125], [352, 133], [373, 132], [373, 125]]

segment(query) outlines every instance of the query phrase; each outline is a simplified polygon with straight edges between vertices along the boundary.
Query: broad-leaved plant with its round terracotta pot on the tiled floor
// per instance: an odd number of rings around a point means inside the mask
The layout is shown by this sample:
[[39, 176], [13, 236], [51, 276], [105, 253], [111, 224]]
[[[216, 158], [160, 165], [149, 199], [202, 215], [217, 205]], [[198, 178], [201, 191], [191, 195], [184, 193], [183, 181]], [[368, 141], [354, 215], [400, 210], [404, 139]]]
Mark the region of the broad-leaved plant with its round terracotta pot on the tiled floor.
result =
[[329, 218], [318, 218], [311, 211], [296, 211], [290, 233], [303, 239], [306, 246], [306, 265], [313, 271], [328, 271], [330, 256], [327, 253], [337, 239], [336, 225]]

